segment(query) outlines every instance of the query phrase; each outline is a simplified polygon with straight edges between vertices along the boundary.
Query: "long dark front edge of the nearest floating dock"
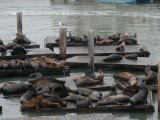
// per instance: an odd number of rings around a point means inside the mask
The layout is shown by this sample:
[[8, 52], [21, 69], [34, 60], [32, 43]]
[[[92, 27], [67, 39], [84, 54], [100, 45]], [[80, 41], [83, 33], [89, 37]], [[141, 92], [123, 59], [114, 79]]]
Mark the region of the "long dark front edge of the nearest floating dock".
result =
[[[35, 111], [33, 109], [22, 109], [22, 112]], [[41, 112], [89, 112], [89, 113], [100, 113], [100, 112], [113, 112], [113, 111], [145, 111], [154, 112], [154, 107], [150, 104], [145, 105], [106, 105], [105, 107], [90, 107], [90, 108], [42, 108]]]

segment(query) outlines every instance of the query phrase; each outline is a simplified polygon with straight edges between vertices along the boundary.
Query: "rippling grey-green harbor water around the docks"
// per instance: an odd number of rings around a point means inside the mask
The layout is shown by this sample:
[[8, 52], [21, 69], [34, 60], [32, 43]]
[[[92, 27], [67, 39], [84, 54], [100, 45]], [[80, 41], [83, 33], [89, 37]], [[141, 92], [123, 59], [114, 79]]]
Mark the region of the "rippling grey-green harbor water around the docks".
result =
[[[137, 33], [138, 43], [146, 46], [151, 58], [160, 58], [160, 4], [107, 3], [96, 0], [0, 0], [0, 38], [7, 43], [15, 38], [16, 13], [23, 13], [23, 33], [44, 47], [46, 36], [59, 35], [59, 22], [64, 23], [73, 34], [84, 34], [87, 30], [109, 35], [114, 32]], [[72, 70], [71, 74], [82, 72]], [[117, 72], [105, 69], [110, 79]], [[141, 74], [137, 73], [136, 74]], [[25, 81], [24, 78], [3, 78], [4, 81]], [[112, 84], [112, 81], [109, 81]], [[113, 112], [118, 120], [158, 120], [157, 96], [153, 94], [154, 113]], [[0, 118], [54, 115], [53, 113], [22, 113], [18, 98], [0, 98], [3, 111]]]

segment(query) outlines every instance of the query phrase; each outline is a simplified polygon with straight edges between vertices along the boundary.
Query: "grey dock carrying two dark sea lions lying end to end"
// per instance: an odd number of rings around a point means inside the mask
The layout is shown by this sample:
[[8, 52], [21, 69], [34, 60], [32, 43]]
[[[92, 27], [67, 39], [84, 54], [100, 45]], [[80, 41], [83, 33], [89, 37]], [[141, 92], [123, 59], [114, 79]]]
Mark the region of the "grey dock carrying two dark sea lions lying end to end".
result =
[[[120, 61], [104, 62], [105, 56], [94, 56], [94, 64], [96, 67], [117, 67], [127, 69], [143, 70], [145, 66], [150, 65], [153, 70], [157, 70], [158, 61], [155, 59], [138, 57], [137, 60], [129, 60], [123, 57]], [[74, 56], [66, 59], [66, 65], [70, 67], [87, 66], [89, 61], [88, 56]]]

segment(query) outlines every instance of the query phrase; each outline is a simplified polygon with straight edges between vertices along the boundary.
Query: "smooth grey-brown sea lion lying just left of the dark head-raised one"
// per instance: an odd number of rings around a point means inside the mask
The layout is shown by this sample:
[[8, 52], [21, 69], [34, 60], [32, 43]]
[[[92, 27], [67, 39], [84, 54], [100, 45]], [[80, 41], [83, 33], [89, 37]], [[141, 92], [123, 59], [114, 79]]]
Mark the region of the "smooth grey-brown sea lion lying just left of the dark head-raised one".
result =
[[129, 103], [129, 96], [127, 95], [113, 95], [109, 96], [102, 101], [97, 102], [97, 106], [102, 105], [114, 105], [114, 104], [128, 104]]

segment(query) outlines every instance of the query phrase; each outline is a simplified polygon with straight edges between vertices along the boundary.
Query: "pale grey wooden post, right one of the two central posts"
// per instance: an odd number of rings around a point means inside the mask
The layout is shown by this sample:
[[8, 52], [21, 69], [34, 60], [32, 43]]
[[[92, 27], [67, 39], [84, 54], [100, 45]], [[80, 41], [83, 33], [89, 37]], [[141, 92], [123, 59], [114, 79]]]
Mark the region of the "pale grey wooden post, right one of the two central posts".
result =
[[88, 55], [89, 64], [88, 66], [94, 72], [94, 31], [88, 31]]

